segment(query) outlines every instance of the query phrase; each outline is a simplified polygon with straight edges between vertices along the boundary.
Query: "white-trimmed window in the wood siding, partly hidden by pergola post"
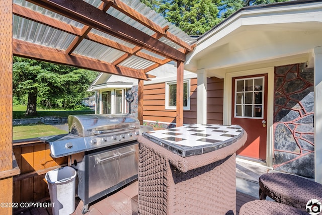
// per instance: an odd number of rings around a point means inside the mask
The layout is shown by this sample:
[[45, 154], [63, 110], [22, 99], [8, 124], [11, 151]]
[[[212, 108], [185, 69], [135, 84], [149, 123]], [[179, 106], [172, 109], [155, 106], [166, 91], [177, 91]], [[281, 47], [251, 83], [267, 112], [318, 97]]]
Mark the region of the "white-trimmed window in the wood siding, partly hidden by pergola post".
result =
[[[183, 91], [183, 109], [190, 110], [190, 80], [184, 80]], [[177, 82], [166, 82], [166, 109], [177, 109]]]

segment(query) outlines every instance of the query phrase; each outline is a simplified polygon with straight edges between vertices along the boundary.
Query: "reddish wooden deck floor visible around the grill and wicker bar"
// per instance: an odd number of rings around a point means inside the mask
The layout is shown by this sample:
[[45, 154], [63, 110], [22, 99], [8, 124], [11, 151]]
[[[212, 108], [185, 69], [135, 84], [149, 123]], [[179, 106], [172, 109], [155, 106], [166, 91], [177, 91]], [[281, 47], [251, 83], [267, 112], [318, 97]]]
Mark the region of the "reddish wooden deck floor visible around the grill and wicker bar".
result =
[[[103, 197], [90, 204], [88, 215], [124, 215], [124, 214], [138, 214], [137, 210], [137, 181], [125, 186], [110, 195]], [[253, 196], [245, 193], [236, 192], [236, 214], [238, 214], [241, 205], [246, 202], [255, 200]], [[83, 201], [79, 198], [75, 200], [76, 209], [72, 215], [81, 215], [83, 209]], [[47, 213], [46, 213], [47, 212]], [[43, 208], [32, 208], [23, 211], [19, 214], [32, 214], [32, 215], [47, 215], [51, 214]]]

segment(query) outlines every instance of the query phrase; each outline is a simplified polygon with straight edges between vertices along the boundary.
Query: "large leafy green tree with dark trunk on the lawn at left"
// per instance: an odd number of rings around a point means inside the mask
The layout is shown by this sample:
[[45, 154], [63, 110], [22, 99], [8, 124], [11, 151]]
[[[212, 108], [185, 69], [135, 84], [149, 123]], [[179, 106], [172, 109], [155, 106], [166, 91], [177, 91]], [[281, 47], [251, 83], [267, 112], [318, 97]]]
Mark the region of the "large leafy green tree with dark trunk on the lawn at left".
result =
[[26, 115], [37, 115], [37, 105], [75, 108], [89, 96], [87, 89], [97, 74], [72, 66], [14, 57], [13, 95], [15, 100], [27, 103]]

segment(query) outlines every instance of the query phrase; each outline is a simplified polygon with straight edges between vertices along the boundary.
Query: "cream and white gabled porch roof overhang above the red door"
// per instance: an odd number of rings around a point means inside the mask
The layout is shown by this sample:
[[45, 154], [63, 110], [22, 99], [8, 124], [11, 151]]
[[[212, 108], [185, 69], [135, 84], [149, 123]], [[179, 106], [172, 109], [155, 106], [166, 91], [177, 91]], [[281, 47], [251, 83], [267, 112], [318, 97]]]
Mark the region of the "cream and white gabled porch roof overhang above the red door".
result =
[[322, 1], [247, 7], [199, 37], [185, 69], [224, 78], [226, 69], [234, 67], [305, 62], [310, 50], [321, 45], [321, 35]]

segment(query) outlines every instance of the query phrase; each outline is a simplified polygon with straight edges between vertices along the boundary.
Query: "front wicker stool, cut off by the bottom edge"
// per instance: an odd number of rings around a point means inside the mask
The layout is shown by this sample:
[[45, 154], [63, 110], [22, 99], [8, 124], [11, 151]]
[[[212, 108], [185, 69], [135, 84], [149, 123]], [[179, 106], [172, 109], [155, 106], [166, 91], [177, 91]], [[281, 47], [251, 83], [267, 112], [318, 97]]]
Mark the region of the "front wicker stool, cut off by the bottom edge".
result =
[[309, 214], [290, 205], [278, 203], [276, 201], [254, 200], [249, 201], [240, 207], [239, 215], [286, 215], [286, 214]]

